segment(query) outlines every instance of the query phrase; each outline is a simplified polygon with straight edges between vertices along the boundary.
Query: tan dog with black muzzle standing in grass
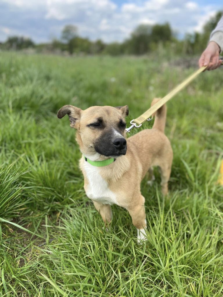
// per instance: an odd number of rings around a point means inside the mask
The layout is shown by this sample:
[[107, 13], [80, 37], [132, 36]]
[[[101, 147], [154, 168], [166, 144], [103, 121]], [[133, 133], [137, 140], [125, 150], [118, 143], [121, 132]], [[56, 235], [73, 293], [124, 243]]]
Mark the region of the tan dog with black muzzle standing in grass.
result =
[[[154, 99], [152, 105], [157, 101]], [[153, 166], [160, 167], [162, 192], [164, 195], [168, 192], [173, 154], [164, 134], [166, 106], [156, 112], [152, 129], [145, 129], [127, 140], [127, 105], [93, 106], [86, 110], [65, 105], [57, 116], [61, 119], [66, 114], [70, 126], [77, 130], [76, 140], [83, 154], [80, 168], [87, 196], [105, 223], [112, 219], [111, 204], [126, 208], [137, 228], [138, 241], [145, 239], [145, 198], [140, 192], [140, 183], [147, 171], [153, 173]], [[110, 164], [105, 165], [105, 162]]]

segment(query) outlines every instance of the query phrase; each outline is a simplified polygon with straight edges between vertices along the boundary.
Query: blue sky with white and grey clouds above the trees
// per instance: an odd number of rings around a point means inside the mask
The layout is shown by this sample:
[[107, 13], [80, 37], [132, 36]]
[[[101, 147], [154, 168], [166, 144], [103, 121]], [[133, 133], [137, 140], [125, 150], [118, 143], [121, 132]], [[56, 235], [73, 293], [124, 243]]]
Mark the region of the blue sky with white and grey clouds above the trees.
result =
[[121, 42], [139, 24], [165, 22], [181, 38], [201, 32], [219, 10], [221, 0], [0, 0], [0, 41], [19, 35], [48, 42], [73, 24], [82, 37]]

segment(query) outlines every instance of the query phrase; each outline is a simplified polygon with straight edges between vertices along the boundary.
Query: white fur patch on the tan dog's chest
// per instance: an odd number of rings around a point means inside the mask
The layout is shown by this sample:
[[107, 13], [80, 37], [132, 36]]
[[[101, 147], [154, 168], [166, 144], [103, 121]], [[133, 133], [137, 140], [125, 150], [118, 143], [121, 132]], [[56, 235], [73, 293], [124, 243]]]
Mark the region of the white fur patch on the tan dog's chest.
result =
[[84, 162], [84, 169], [87, 174], [88, 186], [87, 197], [103, 204], [117, 204], [116, 196], [112, 192], [108, 183], [101, 177], [99, 168]]

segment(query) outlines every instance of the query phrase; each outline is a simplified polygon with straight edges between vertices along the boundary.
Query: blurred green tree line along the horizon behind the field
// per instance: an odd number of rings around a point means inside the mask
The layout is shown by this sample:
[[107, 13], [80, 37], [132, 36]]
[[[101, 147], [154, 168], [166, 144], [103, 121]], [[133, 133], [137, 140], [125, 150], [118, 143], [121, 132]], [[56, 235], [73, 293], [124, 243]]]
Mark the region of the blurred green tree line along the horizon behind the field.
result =
[[30, 38], [12, 36], [0, 44], [2, 50], [23, 50], [34, 48], [36, 51], [64, 52], [68, 54], [109, 54], [143, 55], [157, 51], [158, 48], [175, 54], [199, 54], [206, 47], [211, 31], [216, 27], [222, 11], [210, 18], [202, 33], [186, 34], [179, 40], [169, 23], [137, 26], [131, 36], [123, 42], [105, 43], [102, 40], [91, 41], [78, 35], [78, 28], [67, 25], [61, 32], [61, 38], [50, 43], [35, 44]]

